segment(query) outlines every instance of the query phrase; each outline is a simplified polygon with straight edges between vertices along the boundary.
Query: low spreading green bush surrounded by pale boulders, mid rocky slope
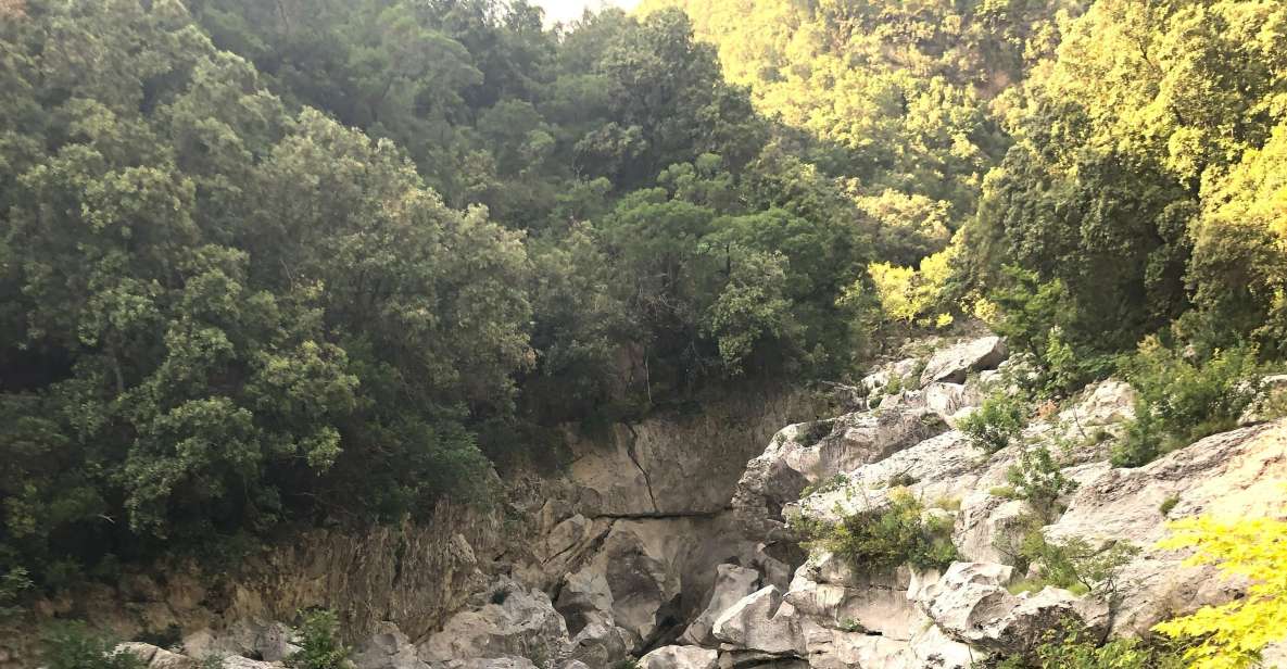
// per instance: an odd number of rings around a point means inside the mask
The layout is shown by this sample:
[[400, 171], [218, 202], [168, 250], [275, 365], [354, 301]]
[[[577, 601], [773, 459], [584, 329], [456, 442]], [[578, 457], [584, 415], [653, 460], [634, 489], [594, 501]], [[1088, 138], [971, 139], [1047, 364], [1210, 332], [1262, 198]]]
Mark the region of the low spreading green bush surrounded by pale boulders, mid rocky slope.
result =
[[820, 529], [819, 542], [856, 570], [880, 573], [907, 564], [916, 569], [945, 569], [960, 557], [952, 545], [952, 522], [925, 518], [924, 506], [905, 490], [889, 504], [846, 517]]

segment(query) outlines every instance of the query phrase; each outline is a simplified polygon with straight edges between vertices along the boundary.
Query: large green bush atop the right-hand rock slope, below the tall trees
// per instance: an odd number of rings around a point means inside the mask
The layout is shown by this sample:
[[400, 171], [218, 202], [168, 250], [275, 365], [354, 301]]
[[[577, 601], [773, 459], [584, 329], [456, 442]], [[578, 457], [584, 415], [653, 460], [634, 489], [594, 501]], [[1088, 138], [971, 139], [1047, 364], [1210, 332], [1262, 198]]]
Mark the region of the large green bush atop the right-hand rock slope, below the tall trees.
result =
[[1139, 467], [1207, 435], [1230, 430], [1260, 391], [1255, 350], [1216, 351], [1194, 362], [1149, 337], [1120, 364], [1135, 387], [1135, 419], [1113, 448], [1116, 467]]

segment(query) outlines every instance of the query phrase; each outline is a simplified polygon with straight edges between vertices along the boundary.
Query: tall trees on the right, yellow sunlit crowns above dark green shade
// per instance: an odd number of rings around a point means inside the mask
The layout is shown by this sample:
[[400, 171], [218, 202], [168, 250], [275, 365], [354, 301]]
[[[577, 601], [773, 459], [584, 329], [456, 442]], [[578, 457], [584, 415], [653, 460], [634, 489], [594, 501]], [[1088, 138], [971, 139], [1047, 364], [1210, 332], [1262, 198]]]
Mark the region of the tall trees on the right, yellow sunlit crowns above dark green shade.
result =
[[1199, 355], [1282, 354], [1287, 9], [1104, 0], [1006, 116], [1015, 136], [965, 243], [973, 280], [1015, 264], [1066, 296], [1073, 349], [1129, 349], [1178, 319]]

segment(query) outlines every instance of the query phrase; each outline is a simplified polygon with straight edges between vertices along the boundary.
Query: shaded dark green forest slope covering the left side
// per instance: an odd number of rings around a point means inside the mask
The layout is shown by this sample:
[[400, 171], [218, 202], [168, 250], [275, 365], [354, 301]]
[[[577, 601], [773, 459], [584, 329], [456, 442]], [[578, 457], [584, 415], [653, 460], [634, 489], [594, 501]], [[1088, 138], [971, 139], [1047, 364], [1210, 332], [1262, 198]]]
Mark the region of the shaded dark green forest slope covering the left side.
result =
[[680, 13], [3, 10], [0, 570], [423, 515], [561, 422], [861, 353], [879, 223]]

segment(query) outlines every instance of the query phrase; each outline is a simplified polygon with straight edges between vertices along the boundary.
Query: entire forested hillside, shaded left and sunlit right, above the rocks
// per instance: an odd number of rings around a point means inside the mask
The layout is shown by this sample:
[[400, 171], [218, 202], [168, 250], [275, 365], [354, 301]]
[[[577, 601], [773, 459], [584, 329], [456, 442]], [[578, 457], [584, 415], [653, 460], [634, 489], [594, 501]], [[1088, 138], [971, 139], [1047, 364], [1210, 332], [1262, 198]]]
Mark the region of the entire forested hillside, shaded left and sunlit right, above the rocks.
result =
[[1118, 464], [1287, 356], [1278, 1], [8, 0], [0, 90], [13, 584], [970, 319], [1027, 398], [1129, 378]]

